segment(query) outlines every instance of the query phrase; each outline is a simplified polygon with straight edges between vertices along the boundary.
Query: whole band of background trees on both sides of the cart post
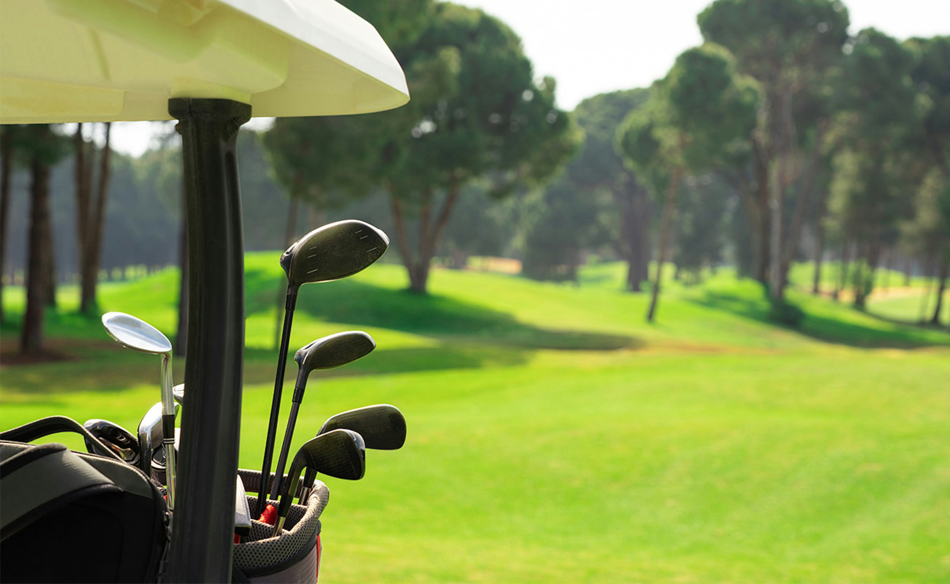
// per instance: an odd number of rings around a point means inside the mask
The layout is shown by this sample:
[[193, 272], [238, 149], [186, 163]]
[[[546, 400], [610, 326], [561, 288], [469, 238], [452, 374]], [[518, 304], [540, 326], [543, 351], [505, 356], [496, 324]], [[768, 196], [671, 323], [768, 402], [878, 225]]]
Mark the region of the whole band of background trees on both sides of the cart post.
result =
[[[688, 282], [729, 262], [789, 324], [802, 318], [785, 295], [792, 262], [812, 260], [812, 292], [849, 290], [859, 309], [889, 266], [934, 276], [925, 320], [939, 323], [950, 37], [849, 35], [835, 0], [715, 0], [697, 17], [703, 45], [662, 79], [566, 112], [515, 32], [480, 9], [343, 4], [390, 45], [412, 99], [242, 132], [247, 249], [364, 218], [390, 233], [390, 257], [419, 293], [433, 260], [504, 254], [530, 277], [573, 281], [599, 254], [627, 263], [627, 290], [651, 292], [648, 320], [665, 262]], [[82, 126], [2, 128], [0, 272], [26, 274], [24, 350], [42, 349], [56, 282], [77, 279], [81, 312], [95, 314], [104, 274], [186, 257], [177, 139], [131, 159], [110, 151], [107, 126], [99, 133], [102, 146]]]

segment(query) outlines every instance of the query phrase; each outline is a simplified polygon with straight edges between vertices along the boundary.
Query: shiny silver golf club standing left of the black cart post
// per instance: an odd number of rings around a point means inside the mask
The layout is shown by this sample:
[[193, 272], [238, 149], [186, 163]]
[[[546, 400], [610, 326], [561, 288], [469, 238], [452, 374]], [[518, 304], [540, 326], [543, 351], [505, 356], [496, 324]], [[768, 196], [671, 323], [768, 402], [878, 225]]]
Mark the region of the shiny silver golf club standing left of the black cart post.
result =
[[[172, 392], [172, 344], [161, 330], [141, 318], [124, 312], [103, 314], [105, 331], [120, 345], [144, 353], [161, 355], [161, 423], [165, 459], [168, 461], [168, 510], [175, 508], [175, 413], [177, 411]], [[141, 429], [141, 426], [140, 426]], [[141, 437], [141, 434], [140, 434]], [[140, 447], [142, 444], [140, 443]], [[142, 448], [142, 452], [148, 452]], [[142, 458], [147, 458], [142, 456]], [[147, 474], [146, 474], [147, 476]]]

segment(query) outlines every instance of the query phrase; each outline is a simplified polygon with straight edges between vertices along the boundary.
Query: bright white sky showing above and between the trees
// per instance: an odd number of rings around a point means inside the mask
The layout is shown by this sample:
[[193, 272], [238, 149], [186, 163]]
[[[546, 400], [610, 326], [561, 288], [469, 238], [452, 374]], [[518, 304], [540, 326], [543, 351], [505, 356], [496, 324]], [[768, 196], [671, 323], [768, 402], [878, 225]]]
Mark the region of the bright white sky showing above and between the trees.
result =
[[[456, 0], [501, 18], [523, 40], [535, 73], [558, 81], [558, 102], [616, 89], [645, 87], [673, 66], [676, 55], [701, 42], [696, 14], [711, 0]], [[875, 27], [891, 36], [950, 34], [950, 0], [845, 0], [850, 32]], [[251, 122], [266, 127], [265, 119]], [[152, 122], [113, 124], [116, 150], [139, 156]]]

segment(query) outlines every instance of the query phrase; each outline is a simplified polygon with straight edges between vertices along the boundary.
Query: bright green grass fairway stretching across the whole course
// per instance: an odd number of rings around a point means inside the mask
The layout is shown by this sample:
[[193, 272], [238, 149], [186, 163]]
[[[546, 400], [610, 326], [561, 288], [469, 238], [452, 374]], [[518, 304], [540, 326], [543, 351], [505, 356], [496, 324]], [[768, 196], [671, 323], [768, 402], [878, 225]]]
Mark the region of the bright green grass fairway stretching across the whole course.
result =
[[[240, 461], [255, 468], [282, 272], [274, 253], [246, 266]], [[360, 405], [398, 405], [409, 424], [402, 450], [368, 453], [364, 480], [326, 480], [321, 581], [950, 581], [947, 329], [797, 289], [803, 327], [775, 327], [728, 270], [670, 282], [647, 325], [623, 269], [589, 266], [580, 286], [440, 270], [421, 297], [377, 265], [300, 292], [292, 348], [347, 329], [379, 348], [311, 376], [295, 448]], [[101, 301], [171, 335], [177, 281], [107, 284]], [[66, 358], [10, 365], [23, 299], [5, 289], [0, 428], [53, 413], [134, 428], [158, 401], [158, 358], [73, 314], [75, 296], [49, 315]]]

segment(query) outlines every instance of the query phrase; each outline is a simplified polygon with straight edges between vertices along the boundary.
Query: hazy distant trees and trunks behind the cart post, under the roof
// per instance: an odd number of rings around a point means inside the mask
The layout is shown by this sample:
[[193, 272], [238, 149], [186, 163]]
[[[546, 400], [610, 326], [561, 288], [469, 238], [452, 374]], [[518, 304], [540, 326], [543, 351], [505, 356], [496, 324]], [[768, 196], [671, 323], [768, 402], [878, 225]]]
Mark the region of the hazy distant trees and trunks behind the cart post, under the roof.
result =
[[[98, 316], [100, 280], [180, 263], [180, 147], [170, 138], [136, 159], [110, 152], [107, 140], [97, 147], [82, 127], [0, 128], [0, 273], [26, 285], [21, 347], [42, 352], [43, 307], [55, 306], [57, 284], [79, 284], [80, 313]], [[238, 151], [245, 248], [278, 249], [286, 198], [256, 133], [242, 133]]]

